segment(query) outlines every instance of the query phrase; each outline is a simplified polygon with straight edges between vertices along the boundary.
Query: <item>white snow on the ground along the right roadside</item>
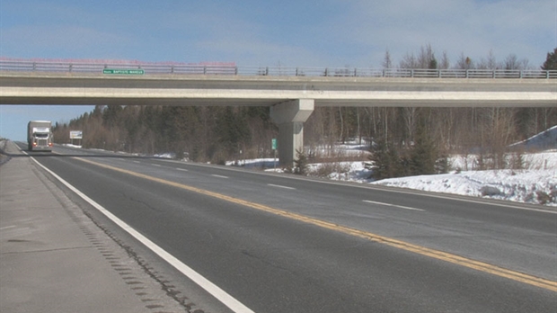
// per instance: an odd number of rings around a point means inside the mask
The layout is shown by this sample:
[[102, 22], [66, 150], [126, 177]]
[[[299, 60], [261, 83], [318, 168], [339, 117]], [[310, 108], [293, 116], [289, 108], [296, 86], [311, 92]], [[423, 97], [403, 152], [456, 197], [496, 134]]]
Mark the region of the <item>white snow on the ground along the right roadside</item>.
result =
[[[557, 207], [557, 150], [526, 154], [523, 158], [523, 170], [456, 171], [456, 168], [465, 168], [464, 162], [468, 162], [468, 168], [473, 168], [475, 156], [453, 156], [450, 164], [454, 170], [450, 174], [389, 178], [380, 181], [369, 178], [372, 171], [366, 168], [366, 162], [313, 164], [309, 166], [309, 172], [310, 175], [319, 175], [320, 169], [328, 166], [332, 173], [327, 177], [336, 181], [371, 183]], [[243, 160], [236, 165], [281, 171], [274, 168], [272, 158]]]

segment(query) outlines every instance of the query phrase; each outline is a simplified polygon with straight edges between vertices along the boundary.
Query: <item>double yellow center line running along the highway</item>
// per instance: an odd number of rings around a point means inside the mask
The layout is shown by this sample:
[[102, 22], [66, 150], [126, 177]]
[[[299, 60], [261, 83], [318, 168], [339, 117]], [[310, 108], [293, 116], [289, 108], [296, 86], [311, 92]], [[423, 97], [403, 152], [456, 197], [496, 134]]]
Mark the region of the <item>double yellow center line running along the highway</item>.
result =
[[269, 206], [260, 204], [260, 203], [255, 203], [252, 201], [245, 201], [242, 199], [238, 199], [238, 198], [234, 198], [231, 196], [227, 196], [225, 194], [221, 194], [221, 193], [217, 193], [217, 192], [210, 192], [208, 190], [205, 189], [200, 189], [200, 188], [196, 188], [196, 187], [192, 187], [186, 184], [182, 184], [182, 183], [174, 183], [171, 181], [167, 181], [161, 178], [157, 178], [157, 177], [153, 177], [153, 176], [149, 176], [146, 174], [140, 174], [137, 172], [132, 172], [132, 171], [128, 171], [125, 169], [121, 169], [118, 167], [114, 167], [111, 165], [103, 165], [97, 162], [93, 162], [91, 160], [87, 160], [84, 159], [82, 157], [74, 157], [75, 159], [78, 159], [80, 161], [83, 161], [85, 163], [89, 163], [92, 165], [97, 165], [97, 166], [101, 166], [113, 171], [117, 171], [120, 173], [124, 173], [124, 174], [129, 174], [132, 176], [136, 176], [139, 178], [143, 178], [146, 180], [150, 180], [152, 182], [156, 182], [156, 183], [164, 183], [166, 185], [170, 185], [172, 187], [176, 187], [176, 188], [180, 188], [183, 190], [187, 190], [190, 192], [198, 192], [200, 194], [205, 194], [208, 195], [210, 197], [214, 197], [220, 200], [224, 200], [224, 201], [229, 201], [229, 202], [233, 202], [236, 204], [240, 204], [252, 209], [256, 209], [256, 210], [262, 210], [265, 212], [269, 212], [275, 215], [279, 215], [281, 217], [285, 217], [287, 219], [295, 219], [298, 221], [302, 221], [305, 222], [307, 224], [311, 224], [311, 225], [315, 225], [315, 226], [319, 226], [321, 228], [327, 228], [327, 229], [331, 229], [331, 230], [335, 230], [335, 231], [339, 231], [341, 233], [350, 235], [350, 236], [354, 236], [354, 237], [361, 237], [361, 238], [365, 238], [367, 240], [371, 240], [377, 243], [381, 243], [384, 244], [386, 246], [393, 246], [405, 251], [410, 251], [419, 255], [426, 255], [438, 260], [442, 260], [442, 261], [446, 261], [452, 264], [458, 264], [461, 266], [465, 266], [468, 268], [472, 268], [474, 270], [478, 270], [478, 271], [482, 271], [484, 273], [491, 273], [493, 275], [497, 275], [500, 277], [505, 277], [517, 282], [524, 282], [526, 284], [529, 285], [533, 285], [536, 287], [540, 287], [540, 288], [544, 288], [546, 290], [550, 290], [550, 291], [557, 291], [557, 282], [553, 282], [550, 280], [546, 280], [544, 278], [539, 278], [539, 277], [535, 277], [526, 273], [519, 273], [516, 271], [512, 271], [512, 270], [508, 270], [506, 268], [502, 268], [496, 265], [492, 265], [492, 264], [487, 264], [487, 263], [483, 263], [480, 261], [475, 261], [473, 259], [469, 259], [469, 258], [465, 258], [463, 256], [459, 256], [459, 255], [453, 255], [453, 254], [449, 254], [443, 251], [439, 251], [439, 250], [435, 250], [435, 249], [430, 249], [427, 248], [425, 246], [417, 246], [417, 245], [413, 245], [411, 243], [405, 242], [405, 241], [401, 241], [401, 240], [397, 240], [391, 237], [385, 237], [385, 236], [380, 236], [380, 235], [376, 235], [364, 230], [359, 230], [356, 228], [349, 228], [346, 226], [342, 226], [342, 225], [338, 225], [332, 222], [328, 222], [325, 220], [321, 220], [321, 219], [314, 219], [314, 218], [310, 218], [307, 217], [305, 215], [301, 215], [301, 214], [297, 214], [297, 213], [293, 213], [293, 212], [289, 212], [287, 210], [279, 210], [279, 209], [275, 209], [275, 208], [271, 208]]

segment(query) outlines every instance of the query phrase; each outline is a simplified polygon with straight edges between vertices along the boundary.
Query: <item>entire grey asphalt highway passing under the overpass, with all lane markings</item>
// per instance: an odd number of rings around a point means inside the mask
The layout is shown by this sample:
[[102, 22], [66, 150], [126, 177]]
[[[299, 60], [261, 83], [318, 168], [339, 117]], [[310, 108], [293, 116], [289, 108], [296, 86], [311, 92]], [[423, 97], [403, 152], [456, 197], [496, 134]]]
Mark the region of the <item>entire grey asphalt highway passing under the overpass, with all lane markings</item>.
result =
[[[557, 308], [551, 208], [74, 148], [30, 155], [245, 311]], [[176, 290], [209, 301], [191, 278], [82, 205], [139, 259], [172, 273]]]

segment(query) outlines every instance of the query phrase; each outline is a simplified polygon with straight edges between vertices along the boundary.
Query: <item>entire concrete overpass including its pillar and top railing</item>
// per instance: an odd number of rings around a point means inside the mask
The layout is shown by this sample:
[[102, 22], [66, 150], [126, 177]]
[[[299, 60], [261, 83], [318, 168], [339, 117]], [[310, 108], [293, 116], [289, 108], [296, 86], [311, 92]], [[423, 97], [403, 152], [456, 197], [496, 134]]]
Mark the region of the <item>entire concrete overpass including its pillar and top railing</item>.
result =
[[315, 106], [557, 106], [557, 71], [235, 67], [0, 59], [0, 104], [269, 106], [292, 165]]

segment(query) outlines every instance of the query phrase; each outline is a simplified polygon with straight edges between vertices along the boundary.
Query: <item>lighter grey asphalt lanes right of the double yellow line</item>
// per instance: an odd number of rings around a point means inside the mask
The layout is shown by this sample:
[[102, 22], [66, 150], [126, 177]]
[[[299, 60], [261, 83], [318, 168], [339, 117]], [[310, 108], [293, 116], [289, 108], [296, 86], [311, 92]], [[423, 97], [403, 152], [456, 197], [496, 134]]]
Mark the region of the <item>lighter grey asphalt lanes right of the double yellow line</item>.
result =
[[[129, 159], [122, 158], [107, 158], [105, 161], [111, 161], [110, 164], [117, 167], [122, 166], [122, 162], [129, 163]], [[240, 198], [249, 201], [491, 264], [503, 264], [547, 279], [554, 280], [556, 276], [555, 255], [547, 247], [554, 245], [551, 234], [554, 234], [557, 222], [554, 216], [550, 214], [548, 218], [544, 212], [384, 192], [357, 188], [354, 184], [308, 183], [307, 180], [292, 179], [292, 175], [249, 174], [243, 170], [223, 172], [222, 168], [215, 166], [184, 165], [156, 159], [133, 159], [131, 165], [134, 171], [146, 174], [162, 169], [174, 170], [176, 177], [172, 179], [199, 188], [230, 196], [241, 194]], [[185, 167], [189, 168], [188, 174], [183, 172]], [[385, 223], [385, 219], [389, 222]]]

